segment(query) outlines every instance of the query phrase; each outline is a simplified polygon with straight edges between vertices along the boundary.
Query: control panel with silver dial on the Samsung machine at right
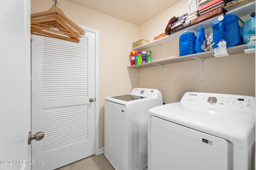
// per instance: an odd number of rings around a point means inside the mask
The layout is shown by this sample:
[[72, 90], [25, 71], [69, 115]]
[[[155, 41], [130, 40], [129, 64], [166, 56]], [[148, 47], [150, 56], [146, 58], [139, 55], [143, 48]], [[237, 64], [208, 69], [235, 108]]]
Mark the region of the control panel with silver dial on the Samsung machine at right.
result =
[[255, 98], [252, 96], [187, 92], [182, 97], [181, 102], [204, 106], [216, 106], [244, 110], [248, 109], [248, 111], [255, 111]]

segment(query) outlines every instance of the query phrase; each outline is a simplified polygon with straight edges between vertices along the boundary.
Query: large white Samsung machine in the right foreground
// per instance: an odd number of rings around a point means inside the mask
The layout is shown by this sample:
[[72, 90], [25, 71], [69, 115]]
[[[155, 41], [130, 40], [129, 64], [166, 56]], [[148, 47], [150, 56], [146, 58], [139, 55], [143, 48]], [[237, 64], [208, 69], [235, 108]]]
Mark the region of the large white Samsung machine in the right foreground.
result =
[[187, 92], [148, 121], [149, 170], [254, 170], [254, 97]]

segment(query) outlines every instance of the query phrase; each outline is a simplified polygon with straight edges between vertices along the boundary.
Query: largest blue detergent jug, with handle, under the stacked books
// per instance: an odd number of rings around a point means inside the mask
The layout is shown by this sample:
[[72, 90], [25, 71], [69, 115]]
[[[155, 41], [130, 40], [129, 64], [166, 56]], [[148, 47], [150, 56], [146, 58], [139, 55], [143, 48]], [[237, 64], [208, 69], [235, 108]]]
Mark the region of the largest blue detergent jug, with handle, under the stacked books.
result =
[[212, 23], [213, 30], [213, 48], [217, 48], [220, 41], [226, 41], [227, 47], [233, 47], [242, 44], [242, 27], [244, 21], [238, 16], [228, 14], [219, 16]]

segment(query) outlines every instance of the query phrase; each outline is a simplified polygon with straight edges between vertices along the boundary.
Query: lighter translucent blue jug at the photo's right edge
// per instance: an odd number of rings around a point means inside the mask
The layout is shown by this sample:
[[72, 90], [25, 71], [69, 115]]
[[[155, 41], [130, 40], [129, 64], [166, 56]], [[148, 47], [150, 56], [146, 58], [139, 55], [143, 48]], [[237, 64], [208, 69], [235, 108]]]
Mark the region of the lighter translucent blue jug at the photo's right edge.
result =
[[244, 23], [242, 36], [243, 43], [249, 43], [250, 37], [255, 34], [255, 12], [250, 15], [250, 18], [246, 23]]

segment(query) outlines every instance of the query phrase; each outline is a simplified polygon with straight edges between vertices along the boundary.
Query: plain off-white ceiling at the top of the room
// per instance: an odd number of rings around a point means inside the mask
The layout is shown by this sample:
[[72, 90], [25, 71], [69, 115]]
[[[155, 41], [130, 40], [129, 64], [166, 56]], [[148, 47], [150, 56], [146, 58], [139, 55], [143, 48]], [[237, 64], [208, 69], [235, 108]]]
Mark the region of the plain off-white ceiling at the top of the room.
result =
[[103, 14], [140, 25], [179, 0], [67, 0]]

